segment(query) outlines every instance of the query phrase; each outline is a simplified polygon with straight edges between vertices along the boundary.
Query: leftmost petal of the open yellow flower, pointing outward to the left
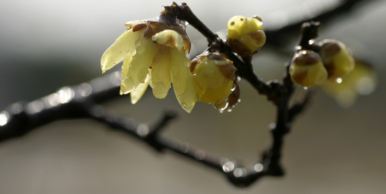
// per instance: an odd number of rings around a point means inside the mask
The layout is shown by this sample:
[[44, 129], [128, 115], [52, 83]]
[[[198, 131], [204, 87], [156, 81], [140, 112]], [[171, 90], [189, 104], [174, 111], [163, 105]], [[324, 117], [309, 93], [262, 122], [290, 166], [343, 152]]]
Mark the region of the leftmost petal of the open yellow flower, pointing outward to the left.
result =
[[143, 38], [143, 33], [144, 30], [137, 32], [128, 30], [118, 37], [117, 40], [102, 55], [102, 73], [128, 57], [135, 50], [136, 41], [140, 41]]

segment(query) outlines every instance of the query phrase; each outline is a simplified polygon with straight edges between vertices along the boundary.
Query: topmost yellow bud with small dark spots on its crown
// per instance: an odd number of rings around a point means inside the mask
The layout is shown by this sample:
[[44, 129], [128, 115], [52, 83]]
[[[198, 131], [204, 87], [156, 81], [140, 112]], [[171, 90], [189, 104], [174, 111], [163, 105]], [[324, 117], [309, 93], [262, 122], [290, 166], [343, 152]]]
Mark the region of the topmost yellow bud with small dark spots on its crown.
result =
[[228, 21], [227, 44], [241, 56], [256, 53], [265, 44], [261, 17], [235, 16]]

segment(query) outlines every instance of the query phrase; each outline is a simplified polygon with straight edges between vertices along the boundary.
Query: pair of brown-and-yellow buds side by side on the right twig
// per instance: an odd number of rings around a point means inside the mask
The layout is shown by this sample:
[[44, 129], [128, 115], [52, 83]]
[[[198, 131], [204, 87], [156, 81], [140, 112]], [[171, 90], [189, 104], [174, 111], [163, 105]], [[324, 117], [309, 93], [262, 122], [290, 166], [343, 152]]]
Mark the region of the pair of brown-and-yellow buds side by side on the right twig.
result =
[[354, 59], [347, 47], [340, 41], [325, 39], [317, 44], [319, 53], [300, 49], [289, 66], [294, 83], [313, 87], [326, 80], [341, 79], [354, 69]]

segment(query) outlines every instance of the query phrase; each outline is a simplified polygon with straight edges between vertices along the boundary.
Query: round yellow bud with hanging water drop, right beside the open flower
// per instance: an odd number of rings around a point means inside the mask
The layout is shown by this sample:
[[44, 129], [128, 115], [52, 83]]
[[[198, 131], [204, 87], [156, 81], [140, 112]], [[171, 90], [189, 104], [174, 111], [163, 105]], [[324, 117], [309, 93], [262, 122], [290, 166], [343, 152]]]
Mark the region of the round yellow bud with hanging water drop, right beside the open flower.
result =
[[224, 104], [217, 109], [228, 106], [228, 96], [232, 92], [235, 78], [233, 61], [218, 52], [205, 52], [191, 61], [190, 72], [194, 75], [199, 101], [204, 103]]

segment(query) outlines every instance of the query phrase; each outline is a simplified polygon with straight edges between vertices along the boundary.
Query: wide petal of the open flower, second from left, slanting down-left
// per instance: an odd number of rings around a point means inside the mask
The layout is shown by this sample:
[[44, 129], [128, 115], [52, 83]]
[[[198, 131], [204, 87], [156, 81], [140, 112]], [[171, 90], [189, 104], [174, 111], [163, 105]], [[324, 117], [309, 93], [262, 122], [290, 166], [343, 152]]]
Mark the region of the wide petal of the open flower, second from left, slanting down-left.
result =
[[[159, 50], [159, 46], [153, 43], [150, 39], [144, 38], [140, 45], [135, 50], [135, 55], [132, 60], [124, 61], [124, 68], [128, 68], [127, 72], [122, 73], [121, 90], [124, 93], [131, 92], [140, 83], [148, 81], [149, 66]], [[129, 57], [128, 57], [129, 58]], [[124, 90], [122, 89], [124, 87]]]

